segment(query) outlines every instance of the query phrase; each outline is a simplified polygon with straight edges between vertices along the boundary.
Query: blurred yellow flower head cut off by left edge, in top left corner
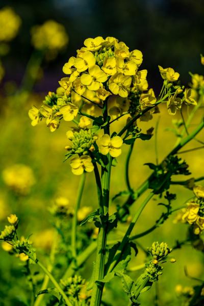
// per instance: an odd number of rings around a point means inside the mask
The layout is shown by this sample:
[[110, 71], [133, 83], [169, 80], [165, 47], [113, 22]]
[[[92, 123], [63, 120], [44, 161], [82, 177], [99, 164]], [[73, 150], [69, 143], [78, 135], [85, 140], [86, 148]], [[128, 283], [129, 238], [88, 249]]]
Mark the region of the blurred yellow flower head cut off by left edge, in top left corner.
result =
[[16, 37], [21, 19], [10, 7], [0, 10], [0, 41], [10, 41]]

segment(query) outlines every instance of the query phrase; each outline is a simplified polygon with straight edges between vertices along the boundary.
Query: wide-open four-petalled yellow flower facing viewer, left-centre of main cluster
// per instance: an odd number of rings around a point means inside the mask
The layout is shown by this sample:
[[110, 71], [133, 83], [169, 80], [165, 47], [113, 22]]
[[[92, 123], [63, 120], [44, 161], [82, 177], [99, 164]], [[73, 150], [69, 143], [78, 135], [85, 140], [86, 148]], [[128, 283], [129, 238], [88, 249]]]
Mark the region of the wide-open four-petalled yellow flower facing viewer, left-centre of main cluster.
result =
[[83, 73], [81, 76], [82, 84], [86, 85], [89, 90], [98, 90], [106, 80], [106, 73], [97, 65], [89, 68], [89, 73]]

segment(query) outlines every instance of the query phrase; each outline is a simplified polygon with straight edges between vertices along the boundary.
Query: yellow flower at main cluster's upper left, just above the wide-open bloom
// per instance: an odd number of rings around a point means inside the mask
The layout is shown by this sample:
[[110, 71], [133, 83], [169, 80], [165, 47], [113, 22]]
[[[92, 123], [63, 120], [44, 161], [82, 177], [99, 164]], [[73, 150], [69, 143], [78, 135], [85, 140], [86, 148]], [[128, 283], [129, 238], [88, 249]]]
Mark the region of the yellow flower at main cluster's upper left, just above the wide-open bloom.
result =
[[78, 56], [74, 61], [74, 66], [79, 72], [83, 72], [95, 65], [96, 59], [90, 51], [78, 52]]

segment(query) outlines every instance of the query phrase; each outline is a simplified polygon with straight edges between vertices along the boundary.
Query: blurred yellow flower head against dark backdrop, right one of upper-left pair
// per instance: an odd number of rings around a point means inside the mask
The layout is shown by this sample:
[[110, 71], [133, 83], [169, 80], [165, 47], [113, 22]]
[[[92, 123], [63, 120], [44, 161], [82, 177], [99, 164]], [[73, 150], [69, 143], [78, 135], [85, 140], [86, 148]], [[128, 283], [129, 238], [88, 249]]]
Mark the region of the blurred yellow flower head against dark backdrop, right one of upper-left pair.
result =
[[68, 43], [68, 35], [62, 24], [47, 20], [42, 25], [35, 25], [31, 30], [32, 44], [36, 49], [59, 51]]

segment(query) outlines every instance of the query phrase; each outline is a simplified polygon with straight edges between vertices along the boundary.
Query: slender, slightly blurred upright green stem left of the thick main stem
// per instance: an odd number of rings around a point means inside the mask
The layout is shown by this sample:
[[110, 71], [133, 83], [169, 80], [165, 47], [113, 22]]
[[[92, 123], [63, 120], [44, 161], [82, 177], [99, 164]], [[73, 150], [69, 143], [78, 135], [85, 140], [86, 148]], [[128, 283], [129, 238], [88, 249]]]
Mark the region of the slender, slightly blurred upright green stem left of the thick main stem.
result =
[[75, 205], [75, 211], [72, 219], [72, 231], [71, 231], [71, 250], [72, 250], [72, 256], [74, 259], [77, 258], [77, 214], [78, 210], [80, 208], [80, 203], [82, 200], [82, 193], [84, 190], [84, 185], [85, 185], [85, 178], [86, 178], [86, 173], [82, 173], [81, 176], [81, 181], [78, 189], [78, 195], [77, 195], [77, 203]]

